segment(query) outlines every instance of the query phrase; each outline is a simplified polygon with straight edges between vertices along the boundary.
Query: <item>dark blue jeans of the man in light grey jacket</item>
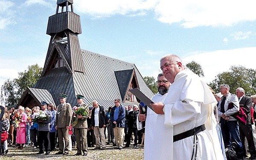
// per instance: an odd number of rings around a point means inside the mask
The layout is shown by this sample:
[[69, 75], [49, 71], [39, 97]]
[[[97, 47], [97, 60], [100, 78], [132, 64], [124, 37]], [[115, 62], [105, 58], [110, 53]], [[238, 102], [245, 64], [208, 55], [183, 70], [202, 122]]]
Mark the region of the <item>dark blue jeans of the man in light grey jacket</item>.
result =
[[238, 121], [226, 121], [221, 118], [221, 133], [224, 141], [224, 145], [230, 145], [231, 142], [236, 142], [236, 156], [243, 158], [243, 147], [239, 134]]

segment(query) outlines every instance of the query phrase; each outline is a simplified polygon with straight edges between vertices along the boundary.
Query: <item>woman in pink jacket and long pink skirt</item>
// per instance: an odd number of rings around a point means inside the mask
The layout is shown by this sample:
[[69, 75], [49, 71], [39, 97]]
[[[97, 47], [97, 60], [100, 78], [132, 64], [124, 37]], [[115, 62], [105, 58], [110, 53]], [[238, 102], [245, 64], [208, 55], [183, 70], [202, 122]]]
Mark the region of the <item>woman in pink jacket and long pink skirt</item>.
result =
[[23, 149], [24, 143], [26, 143], [26, 121], [27, 115], [24, 113], [24, 107], [19, 106], [20, 119], [18, 119], [19, 126], [17, 127], [17, 138], [16, 143], [18, 144], [17, 149]]

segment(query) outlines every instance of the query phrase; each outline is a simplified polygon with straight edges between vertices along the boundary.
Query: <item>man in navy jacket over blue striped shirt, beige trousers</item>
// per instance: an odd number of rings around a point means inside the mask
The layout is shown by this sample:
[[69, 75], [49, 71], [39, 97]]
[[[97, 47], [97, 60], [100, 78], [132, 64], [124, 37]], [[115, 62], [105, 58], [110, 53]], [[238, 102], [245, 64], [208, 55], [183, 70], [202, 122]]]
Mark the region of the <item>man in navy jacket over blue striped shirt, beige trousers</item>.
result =
[[115, 106], [110, 112], [110, 121], [114, 128], [117, 149], [122, 149], [125, 133], [125, 107], [120, 104], [120, 99], [115, 99]]

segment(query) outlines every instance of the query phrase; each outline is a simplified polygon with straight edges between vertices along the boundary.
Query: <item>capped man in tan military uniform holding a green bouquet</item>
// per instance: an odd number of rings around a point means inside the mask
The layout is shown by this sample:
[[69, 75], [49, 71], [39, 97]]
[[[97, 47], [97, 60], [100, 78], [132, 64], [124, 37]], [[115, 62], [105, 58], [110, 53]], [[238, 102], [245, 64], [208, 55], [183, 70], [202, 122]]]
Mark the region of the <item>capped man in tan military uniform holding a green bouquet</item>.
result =
[[73, 114], [72, 117], [72, 122], [76, 121], [77, 119], [77, 124], [75, 124], [73, 127], [75, 129], [75, 136], [76, 136], [76, 145], [77, 145], [77, 155], [81, 155], [83, 152], [84, 156], [87, 156], [88, 152], [88, 146], [87, 146], [87, 118], [89, 117], [89, 107], [84, 104], [83, 95], [76, 95], [77, 98], [77, 104], [73, 108], [79, 109], [80, 107], [84, 107], [85, 111], [87, 112], [87, 115], [75, 115]]

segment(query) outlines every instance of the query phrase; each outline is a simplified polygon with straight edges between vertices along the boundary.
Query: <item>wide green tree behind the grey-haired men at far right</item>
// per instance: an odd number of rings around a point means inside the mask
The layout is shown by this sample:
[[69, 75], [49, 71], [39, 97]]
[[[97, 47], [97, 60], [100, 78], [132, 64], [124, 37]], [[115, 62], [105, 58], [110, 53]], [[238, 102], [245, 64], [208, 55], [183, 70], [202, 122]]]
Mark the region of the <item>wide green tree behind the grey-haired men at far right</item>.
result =
[[256, 88], [256, 70], [242, 66], [231, 66], [230, 71], [219, 73], [209, 86], [218, 93], [221, 84], [230, 86], [230, 93], [236, 93], [238, 87], [245, 90], [245, 95], [254, 95]]

